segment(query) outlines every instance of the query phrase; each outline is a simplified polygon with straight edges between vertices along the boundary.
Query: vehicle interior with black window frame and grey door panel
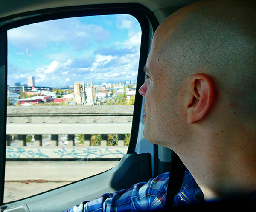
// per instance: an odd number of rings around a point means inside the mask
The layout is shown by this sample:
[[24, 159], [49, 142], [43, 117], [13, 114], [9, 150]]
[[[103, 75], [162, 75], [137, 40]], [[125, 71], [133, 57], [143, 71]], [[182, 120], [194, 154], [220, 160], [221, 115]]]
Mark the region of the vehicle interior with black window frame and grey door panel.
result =
[[[0, 52], [0, 205], [5, 212], [63, 211], [82, 201], [91, 201], [104, 193], [111, 193], [148, 181], [170, 170], [170, 178], [179, 189], [184, 167], [172, 150], [151, 144], [143, 137], [143, 103], [138, 90], [145, 82], [143, 67], [157, 26], [170, 14], [195, 1], [191, 0], [1, 0]], [[7, 119], [7, 31], [13, 28], [58, 20], [68, 17], [129, 14], [141, 27], [140, 57], [133, 109], [131, 138], [127, 153], [110, 170], [82, 178], [61, 187], [15, 201], [4, 201], [6, 172], [6, 119]], [[67, 28], [68, 30], [68, 28]], [[176, 168], [175, 168], [176, 165]], [[177, 172], [176, 172], [177, 171]], [[178, 177], [177, 177], [178, 176]], [[176, 181], [175, 181], [176, 179]], [[174, 186], [175, 186], [174, 183]], [[176, 189], [176, 190], [177, 190]], [[177, 192], [175, 190], [175, 192]]]

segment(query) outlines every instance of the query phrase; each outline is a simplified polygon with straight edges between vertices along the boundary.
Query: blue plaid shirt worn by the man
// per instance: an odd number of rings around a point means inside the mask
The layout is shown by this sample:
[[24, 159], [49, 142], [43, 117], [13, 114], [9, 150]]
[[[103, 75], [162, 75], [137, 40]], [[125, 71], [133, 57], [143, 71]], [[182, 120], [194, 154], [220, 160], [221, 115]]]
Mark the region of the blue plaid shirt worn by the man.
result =
[[[169, 181], [169, 172], [151, 178], [148, 182], [137, 183], [130, 189], [123, 189], [113, 194], [104, 194], [99, 198], [80, 205], [75, 205], [66, 212], [117, 212], [151, 211], [164, 208]], [[174, 198], [174, 206], [203, 201], [201, 189], [186, 170], [180, 192]]]

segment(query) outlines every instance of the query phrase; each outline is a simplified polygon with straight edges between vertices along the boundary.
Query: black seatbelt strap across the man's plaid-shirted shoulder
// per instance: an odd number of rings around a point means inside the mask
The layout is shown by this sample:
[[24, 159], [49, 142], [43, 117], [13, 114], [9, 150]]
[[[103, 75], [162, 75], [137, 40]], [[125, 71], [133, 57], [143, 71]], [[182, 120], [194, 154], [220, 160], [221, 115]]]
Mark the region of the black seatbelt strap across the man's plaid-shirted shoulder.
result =
[[167, 187], [165, 211], [170, 211], [174, 204], [174, 196], [180, 191], [186, 167], [179, 156], [173, 152]]

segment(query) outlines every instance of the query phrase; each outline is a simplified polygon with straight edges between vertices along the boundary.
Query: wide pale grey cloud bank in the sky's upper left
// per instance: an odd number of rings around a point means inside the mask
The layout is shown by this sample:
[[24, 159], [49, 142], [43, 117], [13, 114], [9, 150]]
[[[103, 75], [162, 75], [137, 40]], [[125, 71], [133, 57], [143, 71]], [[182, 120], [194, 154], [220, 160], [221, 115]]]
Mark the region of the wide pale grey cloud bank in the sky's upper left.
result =
[[[68, 30], [67, 30], [68, 29]], [[53, 45], [71, 45], [73, 49], [84, 49], [94, 42], [108, 40], [110, 31], [96, 24], [84, 24], [77, 18], [45, 21], [8, 31], [8, 42], [30, 54], [33, 50]]]

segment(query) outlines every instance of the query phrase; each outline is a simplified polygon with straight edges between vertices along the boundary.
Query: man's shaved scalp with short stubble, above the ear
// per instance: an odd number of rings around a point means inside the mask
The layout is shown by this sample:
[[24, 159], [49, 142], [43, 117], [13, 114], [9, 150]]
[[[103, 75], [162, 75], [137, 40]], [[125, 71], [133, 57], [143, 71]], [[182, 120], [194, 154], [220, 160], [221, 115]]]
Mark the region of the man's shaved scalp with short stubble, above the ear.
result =
[[177, 88], [189, 75], [205, 73], [217, 95], [255, 121], [255, 2], [194, 3], [164, 20], [155, 40]]

